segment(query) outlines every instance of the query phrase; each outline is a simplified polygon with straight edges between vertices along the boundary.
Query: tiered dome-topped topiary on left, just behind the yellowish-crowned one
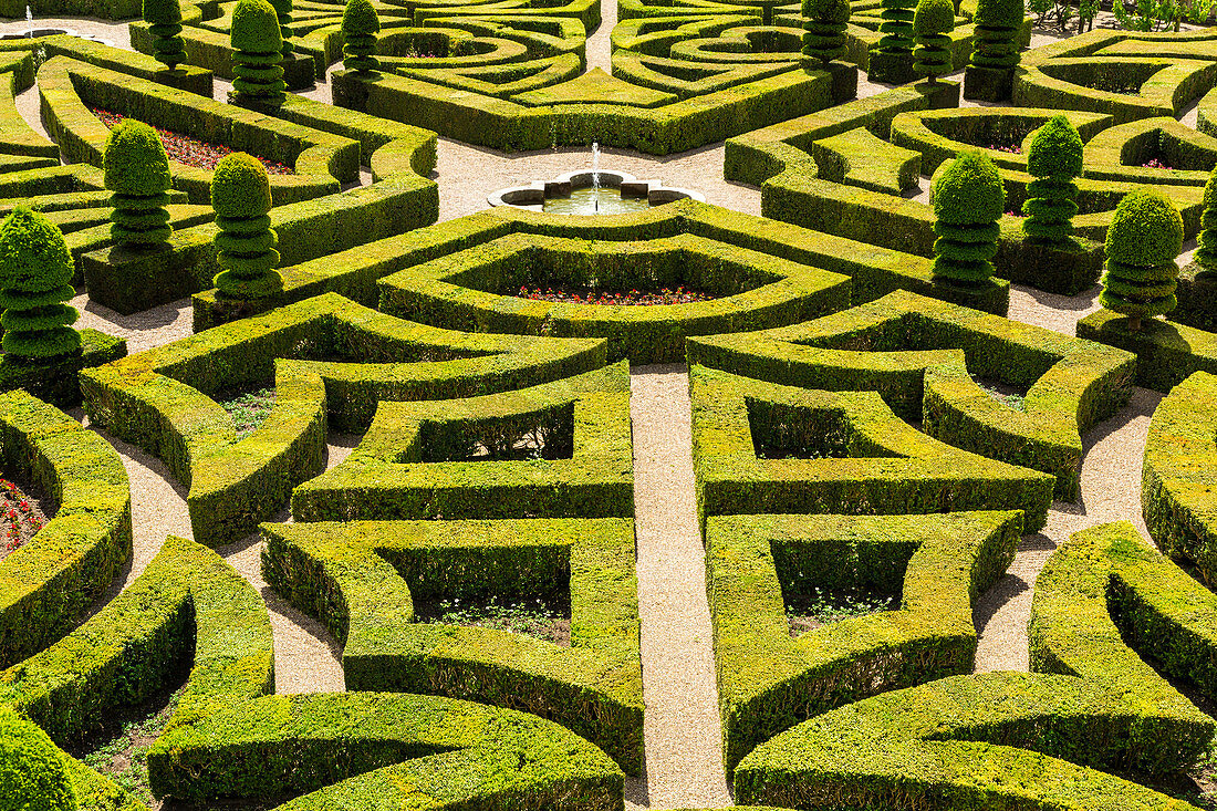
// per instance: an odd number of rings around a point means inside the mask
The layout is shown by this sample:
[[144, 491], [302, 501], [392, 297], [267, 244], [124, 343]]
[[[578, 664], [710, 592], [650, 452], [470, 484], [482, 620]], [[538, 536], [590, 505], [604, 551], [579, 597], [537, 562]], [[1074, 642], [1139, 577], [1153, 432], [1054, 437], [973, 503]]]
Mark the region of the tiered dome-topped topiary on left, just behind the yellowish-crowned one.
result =
[[169, 226], [169, 157], [157, 132], [134, 118], [110, 130], [101, 167], [114, 206], [110, 235], [125, 247], [153, 247], [173, 233]]

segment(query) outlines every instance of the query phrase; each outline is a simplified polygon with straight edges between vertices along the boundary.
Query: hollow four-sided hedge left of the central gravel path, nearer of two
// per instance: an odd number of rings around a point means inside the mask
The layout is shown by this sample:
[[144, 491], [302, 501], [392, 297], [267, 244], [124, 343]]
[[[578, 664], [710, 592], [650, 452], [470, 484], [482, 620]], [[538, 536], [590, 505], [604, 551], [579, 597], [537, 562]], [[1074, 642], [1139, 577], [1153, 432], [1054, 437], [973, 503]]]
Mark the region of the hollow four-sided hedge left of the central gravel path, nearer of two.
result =
[[[262, 532], [263, 576], [343, 645], [347, 689], [526, 710], [587, 738], [627, 772], [641, 768], [633, 521], [264, 524]], [[414, 622], [420, 599], [562, 593], [571, 605], [570, 648]]]

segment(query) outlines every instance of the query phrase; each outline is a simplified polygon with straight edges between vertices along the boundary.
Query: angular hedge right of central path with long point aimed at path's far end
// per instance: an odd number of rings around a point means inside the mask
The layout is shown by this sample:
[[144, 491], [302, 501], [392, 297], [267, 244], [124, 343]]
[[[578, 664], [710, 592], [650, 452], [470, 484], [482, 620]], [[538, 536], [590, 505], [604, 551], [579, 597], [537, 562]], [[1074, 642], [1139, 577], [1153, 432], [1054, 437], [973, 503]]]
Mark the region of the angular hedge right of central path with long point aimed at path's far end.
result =
[[[1134, 359], [907, 292], [795, 326], [689, 341], [689, 362], [770, 382], [876, 391], [902, 419], [943, 442], [1055, 476], [1079, 493], [1081, 435], [1132, 393]], [[1022, 409], [971, 377], [1026, 391]]]

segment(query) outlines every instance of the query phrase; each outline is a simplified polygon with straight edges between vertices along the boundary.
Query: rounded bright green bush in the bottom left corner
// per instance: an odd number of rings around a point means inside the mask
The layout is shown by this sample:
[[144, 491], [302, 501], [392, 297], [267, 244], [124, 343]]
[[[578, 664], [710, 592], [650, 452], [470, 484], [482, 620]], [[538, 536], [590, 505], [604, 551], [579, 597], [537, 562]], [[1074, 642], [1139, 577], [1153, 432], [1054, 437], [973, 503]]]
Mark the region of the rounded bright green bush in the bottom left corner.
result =
[[77, 811], [63, 754], [45, 732], [0, 706], [0, 811]]

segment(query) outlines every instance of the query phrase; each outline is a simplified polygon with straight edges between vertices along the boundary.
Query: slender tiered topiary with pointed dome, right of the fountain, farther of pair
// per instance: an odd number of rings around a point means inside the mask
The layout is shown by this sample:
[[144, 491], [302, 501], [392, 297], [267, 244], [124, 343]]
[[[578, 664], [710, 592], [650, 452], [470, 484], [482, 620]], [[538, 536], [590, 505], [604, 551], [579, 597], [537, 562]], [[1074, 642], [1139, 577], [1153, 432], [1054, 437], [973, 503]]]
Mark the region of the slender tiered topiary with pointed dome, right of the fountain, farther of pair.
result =
[[1053, 116], [1031, 139], [1027, 185], [1022, 203], [1022, 231], [1030, 242], [1067, 248], [1075, 245], [1073, 214], [1077, 213], [1077, 184], [1082, 174], [1082, 136], [1065, 116]]

